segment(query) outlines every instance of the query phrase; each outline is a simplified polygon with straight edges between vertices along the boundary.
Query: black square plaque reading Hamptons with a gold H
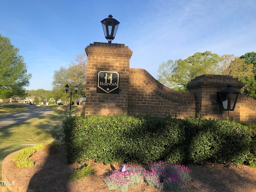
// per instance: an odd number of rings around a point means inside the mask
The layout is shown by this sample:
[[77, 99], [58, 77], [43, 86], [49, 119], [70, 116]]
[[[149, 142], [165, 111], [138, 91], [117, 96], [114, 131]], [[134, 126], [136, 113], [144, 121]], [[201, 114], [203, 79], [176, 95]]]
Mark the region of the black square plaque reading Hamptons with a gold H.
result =
[[98, 71], [97, 93], [119, 94], [119, 73]]

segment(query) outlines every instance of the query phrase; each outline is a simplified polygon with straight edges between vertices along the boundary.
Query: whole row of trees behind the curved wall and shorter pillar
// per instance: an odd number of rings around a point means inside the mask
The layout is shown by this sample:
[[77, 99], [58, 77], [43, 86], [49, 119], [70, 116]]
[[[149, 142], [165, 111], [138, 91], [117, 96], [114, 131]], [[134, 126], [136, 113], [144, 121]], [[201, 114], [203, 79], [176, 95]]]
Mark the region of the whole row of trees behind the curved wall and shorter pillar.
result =
[[238, 57], [234, 54], [218, 56], [210, 51], [197, 52], [182, 60], [162, 62], [157, 79], [165, 86], [182, 92], [186, 85], [203, 74], [231, 75], [244, 87], [241, 93], [256, 99], [256, 53], [248, 52]]

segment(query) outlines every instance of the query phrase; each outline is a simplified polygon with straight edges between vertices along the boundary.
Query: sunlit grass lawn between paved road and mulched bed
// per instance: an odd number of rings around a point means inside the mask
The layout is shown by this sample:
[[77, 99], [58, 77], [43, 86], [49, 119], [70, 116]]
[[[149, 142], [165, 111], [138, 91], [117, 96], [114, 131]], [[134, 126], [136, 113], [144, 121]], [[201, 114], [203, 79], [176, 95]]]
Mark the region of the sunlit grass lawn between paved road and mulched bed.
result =
[[[47, 108], [53, 111], [46, 116], [0, 128], [0, 180], [2, 179], [2, 162], [7, 155], [34, 144], [52, 142], [53, 134], [63, 134], [62, 122], [69, 115], [69, 106], [53, 105]], [[12, 109], [9, 110], [12, 111]], [[72, 106], [71, 112], [72, 115], [76, 115], [76, 106]], [[3, 191], [3, 188], [5, 187], [0, 186], [0, 191]]]

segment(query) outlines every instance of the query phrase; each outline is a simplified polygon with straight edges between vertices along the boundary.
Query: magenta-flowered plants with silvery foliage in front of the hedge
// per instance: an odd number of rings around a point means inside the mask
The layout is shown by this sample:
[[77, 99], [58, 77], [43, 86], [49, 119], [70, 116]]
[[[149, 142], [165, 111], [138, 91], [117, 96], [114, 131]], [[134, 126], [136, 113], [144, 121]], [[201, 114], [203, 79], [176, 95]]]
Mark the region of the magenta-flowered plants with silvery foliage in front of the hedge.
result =
[[117, 189], [120, 192], [127, 192], [128, 187], [140, 187], [144, 180], [146, 184], [159, 190], [166, 188], [182, 191], [182, 185], [188, 180], [190, 172], [190, 169], [185, 166], [166, 162], [151, 163], [150, 170], [141, 168], [141, 166], [127, 164], [125, 171], [114, 170], [110, 176], [106, 177], [105, 184], [109, 190]]

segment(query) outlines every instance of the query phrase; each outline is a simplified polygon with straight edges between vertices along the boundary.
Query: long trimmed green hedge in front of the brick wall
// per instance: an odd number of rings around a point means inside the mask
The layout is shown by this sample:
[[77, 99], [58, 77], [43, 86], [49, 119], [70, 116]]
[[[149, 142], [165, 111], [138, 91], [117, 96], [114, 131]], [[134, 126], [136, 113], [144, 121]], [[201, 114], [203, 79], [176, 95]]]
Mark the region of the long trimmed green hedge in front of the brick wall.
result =
[[250, 156], [249, 128], [228, 120], [74, 116], [64, 121], [64, 134], [69, 163], [240, 164]]

